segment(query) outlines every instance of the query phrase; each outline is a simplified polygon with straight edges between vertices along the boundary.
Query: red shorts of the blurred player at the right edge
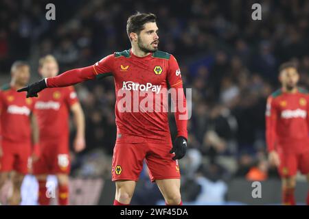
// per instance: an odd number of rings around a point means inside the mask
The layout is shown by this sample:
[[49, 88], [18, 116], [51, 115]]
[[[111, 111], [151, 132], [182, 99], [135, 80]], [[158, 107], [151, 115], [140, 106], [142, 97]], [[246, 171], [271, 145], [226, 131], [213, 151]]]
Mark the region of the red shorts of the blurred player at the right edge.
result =
[[304, 153], [284, 153], [278, 150], [280, 165], [278, 168], [279, 174], [282, 177], [292, 177], [300, 170], [301, 174], [309, 173], [309, 151]]

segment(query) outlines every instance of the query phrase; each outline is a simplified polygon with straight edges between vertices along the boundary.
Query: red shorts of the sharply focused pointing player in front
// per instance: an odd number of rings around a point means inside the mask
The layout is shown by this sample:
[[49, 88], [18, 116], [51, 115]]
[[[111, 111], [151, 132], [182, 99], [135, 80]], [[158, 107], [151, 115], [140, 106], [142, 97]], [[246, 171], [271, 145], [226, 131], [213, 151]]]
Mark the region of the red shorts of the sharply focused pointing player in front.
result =
[[172, 144], [116, 142], [113, 154], [112, 180], [139, 179], [144, 159], [148, 166], [150, 180], [180, 179], [178, 161], [170, 153]]

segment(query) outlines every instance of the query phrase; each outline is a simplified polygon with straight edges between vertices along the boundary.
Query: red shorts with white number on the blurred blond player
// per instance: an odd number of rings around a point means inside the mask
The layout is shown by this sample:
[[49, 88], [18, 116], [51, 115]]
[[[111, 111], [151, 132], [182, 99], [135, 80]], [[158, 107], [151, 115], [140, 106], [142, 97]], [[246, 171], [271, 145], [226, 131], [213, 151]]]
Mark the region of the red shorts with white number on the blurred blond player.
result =
[[32, 164], [34, 175], [69, 174], [71, 161], [69, 157], [69, 140], [67, 138], [43, 139], [39, 146], [41, 155]]

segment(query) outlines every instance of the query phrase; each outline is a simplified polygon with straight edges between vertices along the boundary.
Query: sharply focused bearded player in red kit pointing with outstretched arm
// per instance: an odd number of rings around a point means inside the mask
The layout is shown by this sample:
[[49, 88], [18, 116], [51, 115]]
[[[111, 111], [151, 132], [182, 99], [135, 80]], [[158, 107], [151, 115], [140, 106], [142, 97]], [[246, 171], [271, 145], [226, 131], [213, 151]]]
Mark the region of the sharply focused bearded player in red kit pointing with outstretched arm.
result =
[[[187, 108], [181, 71], [173, 55], [158, 51], [155, 14], [137, 13], [130, 16], [126, 30], [131, 49], [108, 55], [91, 66], [68, 70], [57, 77], [38, 81], [19, 91], [27, 91], [27, 96], [32, 97], [45, 88], [113, 76], [117, 125], [112, 164], [112, 179], [116, 183], [114, 205], [130, 204], [144, 159], [150, 179], [159, 186], [166, 204], [181, 205], [181, 176], [177, 159], [185, 155], [187, 147]], [[148, 110], [148, 104], [152, 101], [145, 104], [142, 97], [147, 94], [151, 99], [161, 93], [167, 94], [168, 88], [177, 91], [176, 95], [172, 95], [177, 127], [174, 145], [170, 138], [168, 112], [162, 110], [166, 105], [161, 100], [156, 105], [161, 110]], [[132, 112], [130, 101], [125, 106], [123, 101], [132, 98], [135, 103], [136, 94], [139, 109]]]

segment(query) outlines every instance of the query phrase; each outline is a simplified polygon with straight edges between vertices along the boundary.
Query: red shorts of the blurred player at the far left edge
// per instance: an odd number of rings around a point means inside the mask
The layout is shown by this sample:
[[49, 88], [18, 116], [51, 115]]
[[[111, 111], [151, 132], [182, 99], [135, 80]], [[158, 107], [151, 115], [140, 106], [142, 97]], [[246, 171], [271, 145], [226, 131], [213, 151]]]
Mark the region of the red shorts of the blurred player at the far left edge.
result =
[[26, 175], [31, 155], [30, 142], [10, 142], [8, 140], [1, 141], [3, 156], [0, 157], [0, 172], [10, 172], [16, 170]]

